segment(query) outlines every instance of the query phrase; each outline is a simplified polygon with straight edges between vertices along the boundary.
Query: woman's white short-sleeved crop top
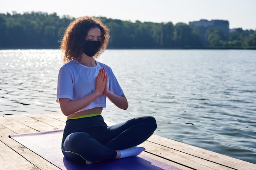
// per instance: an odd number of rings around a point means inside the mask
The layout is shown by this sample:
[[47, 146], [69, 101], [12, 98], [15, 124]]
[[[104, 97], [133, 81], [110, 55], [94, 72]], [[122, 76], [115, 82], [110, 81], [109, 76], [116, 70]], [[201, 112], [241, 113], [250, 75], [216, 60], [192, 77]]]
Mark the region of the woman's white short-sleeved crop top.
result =
[[[121, 96], [124, 94], [117, 78], [113, 74], [111, 68], [103, 63], [96, 61], [97, 65], [94, 67], [87, 67], [76, 60], [63, 65], [58, 74], [57, 87], [57, 102], [60, 98], [69, 98], [76, 100], [87, 96], [95, 91], [95, 77], [99, 70], [105, 67], [108, 74], [108, 89], [110, 92]], [[83, 109], [77, 111], [84, 111], [94, 107], [106, 107], [106, 95], [101, 95]]]

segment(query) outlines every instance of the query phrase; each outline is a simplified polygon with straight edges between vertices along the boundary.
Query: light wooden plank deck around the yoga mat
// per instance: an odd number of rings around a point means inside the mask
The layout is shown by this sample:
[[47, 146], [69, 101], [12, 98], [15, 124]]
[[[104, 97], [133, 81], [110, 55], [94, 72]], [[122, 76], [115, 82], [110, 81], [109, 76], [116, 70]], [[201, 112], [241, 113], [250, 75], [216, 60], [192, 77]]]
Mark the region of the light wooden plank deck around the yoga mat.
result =
[[[0, 169], [59, 169], [8, 135], [64, 129], [65, 120], [61, 113], [0, 116]], [[152, 135], [141, 146], [146, 148], [143, 155], [182, 170], [256, 170], [256, 164], [157, 135]]]

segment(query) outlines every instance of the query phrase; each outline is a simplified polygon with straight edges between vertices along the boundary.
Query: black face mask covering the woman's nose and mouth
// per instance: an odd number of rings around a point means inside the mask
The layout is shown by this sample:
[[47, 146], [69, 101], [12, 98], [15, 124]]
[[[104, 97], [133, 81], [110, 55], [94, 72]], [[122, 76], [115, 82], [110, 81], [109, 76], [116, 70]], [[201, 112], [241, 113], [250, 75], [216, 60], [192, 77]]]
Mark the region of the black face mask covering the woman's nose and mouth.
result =
[[89, 57], [94, 56], [98, 51], [101, 45], [101, 41], [85, 41], [83, 45], [83, 52]]

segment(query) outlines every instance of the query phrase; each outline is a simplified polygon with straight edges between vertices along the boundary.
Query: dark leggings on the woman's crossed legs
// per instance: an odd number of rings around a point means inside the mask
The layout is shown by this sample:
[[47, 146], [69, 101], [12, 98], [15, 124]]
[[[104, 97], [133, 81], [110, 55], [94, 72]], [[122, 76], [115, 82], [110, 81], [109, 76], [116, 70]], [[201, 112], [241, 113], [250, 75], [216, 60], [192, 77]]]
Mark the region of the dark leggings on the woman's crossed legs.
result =
[[150, 137], [157, 124], [151, 116], [107, 126], [101, 115], [70, 119], [64, 129], [63, 155], [73, 161], [114, 159], [116, 150], [137, 146]]

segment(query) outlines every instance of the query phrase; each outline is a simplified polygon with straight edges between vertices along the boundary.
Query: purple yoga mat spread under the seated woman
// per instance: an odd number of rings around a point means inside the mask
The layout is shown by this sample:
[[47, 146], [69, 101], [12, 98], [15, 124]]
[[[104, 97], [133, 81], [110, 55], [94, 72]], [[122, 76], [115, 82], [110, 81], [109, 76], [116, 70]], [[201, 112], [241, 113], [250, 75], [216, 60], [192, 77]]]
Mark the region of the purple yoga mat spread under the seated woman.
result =
[[92, 163], [73, 162], [61, 152], [63, 130], [9, 135], [29, 150], [40, 155], [62, 170], [179, 170], [144, 155]]

